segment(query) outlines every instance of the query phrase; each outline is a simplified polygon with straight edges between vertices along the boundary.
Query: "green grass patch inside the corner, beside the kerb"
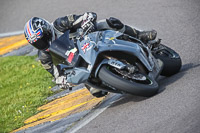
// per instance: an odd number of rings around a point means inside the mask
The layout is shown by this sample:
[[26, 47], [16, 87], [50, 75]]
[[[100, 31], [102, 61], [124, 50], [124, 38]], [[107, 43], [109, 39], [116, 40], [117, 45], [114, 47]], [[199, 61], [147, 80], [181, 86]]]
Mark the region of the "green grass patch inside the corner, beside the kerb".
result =
[[35, 58], [0, 57], [0, 133], [23, 126], [51, 94], [52, 76]]

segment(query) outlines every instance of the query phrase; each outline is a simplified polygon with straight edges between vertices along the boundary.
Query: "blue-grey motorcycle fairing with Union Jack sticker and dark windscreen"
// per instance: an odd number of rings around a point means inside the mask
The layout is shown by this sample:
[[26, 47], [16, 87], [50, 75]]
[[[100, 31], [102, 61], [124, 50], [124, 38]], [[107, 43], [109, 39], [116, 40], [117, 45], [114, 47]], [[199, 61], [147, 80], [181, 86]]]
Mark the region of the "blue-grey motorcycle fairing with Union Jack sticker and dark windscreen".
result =
[[[117, 37], [121, 35], [122, 33], [112, 30], [89, 33], [84, 37], [84, 39], [77, 40], [77, 52], [75, 53], [72, 63], [69, 63], [67, 61], [66, 52], [69, 48], [71, 49], [75, 46], [71, 43], [69, 39], [69, 32], [67, 31], [57, 41], [52, 43], [50, 52], [53, 56], [53, 61], [56, 62], [56, 64], [66, 64], [72, 66], [71, 69], [66, 70], [66, 73], [68, 73], [67, 82], [74, 84], [83, 83], [89, 78], [97, 56], [105, 51], [122, 51], [136, 56], [144, 64], [147, 70], [152, 73], [151, 75], [156, 77], [158, 72], [155, 74], [153, 74], [153, 72], [159, 67], [155, 66], [154, 63], [150, 63], [152, 61], [149, 60], [150, 58], [152, 58], [152, 60], [156, 59], [151, 57], [151, 54], [147, 56], [139, 43], [117, 39]], [[87, 67], [76, 66], [76, 62], [79, 61], [80, 58], [87, 62]]]

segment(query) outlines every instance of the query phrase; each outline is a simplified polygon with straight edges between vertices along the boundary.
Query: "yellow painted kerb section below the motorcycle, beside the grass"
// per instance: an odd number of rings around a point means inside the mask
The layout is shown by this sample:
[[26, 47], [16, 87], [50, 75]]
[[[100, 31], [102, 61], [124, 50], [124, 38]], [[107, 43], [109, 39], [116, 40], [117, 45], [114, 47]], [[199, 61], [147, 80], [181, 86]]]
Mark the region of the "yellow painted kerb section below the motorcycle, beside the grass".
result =
[[29, 124], [14, 130], [13, 132], [33, 127], [41, 123], [56, 121], [71, 114], [91, 109], [99, 104], [104, 98], [105, 97], [96, 98], [92, 96], [86, 88], [78, 90], [65, 97], [56, 99], [44, 106], [39, 107], [38, 110], [44, 111], [27, 119], [25, 123]]

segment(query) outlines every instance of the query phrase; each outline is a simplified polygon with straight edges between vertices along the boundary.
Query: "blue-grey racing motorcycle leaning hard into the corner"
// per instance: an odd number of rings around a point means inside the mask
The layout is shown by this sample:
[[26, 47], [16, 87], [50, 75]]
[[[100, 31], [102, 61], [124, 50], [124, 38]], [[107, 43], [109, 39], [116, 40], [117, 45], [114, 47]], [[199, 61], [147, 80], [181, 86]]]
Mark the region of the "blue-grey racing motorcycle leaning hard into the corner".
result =
[[66, 31], [49, 51], [68, 83], [149, 97], [159, 90], [159, 75], [171, 76], [181, 68], [178, 53], [160, 40], [151, 43], [113, 30], [74, 39]]

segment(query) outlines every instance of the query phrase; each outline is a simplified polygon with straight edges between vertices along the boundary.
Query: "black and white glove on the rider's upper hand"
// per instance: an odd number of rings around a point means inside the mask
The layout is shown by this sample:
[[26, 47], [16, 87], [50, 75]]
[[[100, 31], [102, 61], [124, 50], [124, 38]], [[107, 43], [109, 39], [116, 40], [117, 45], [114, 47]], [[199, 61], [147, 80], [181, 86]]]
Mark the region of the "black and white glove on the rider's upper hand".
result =
[[81, 28], [83, 29], [83, 32], [86, 34], [88, 32], [92, 32], [95, 30], [95, 21], [97, 19], [96, 13], [85, 13], [83, 15], [83, 22], [81, 23]]

